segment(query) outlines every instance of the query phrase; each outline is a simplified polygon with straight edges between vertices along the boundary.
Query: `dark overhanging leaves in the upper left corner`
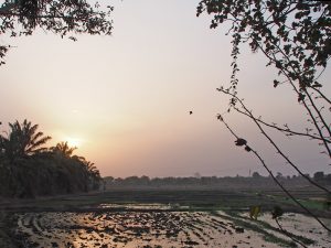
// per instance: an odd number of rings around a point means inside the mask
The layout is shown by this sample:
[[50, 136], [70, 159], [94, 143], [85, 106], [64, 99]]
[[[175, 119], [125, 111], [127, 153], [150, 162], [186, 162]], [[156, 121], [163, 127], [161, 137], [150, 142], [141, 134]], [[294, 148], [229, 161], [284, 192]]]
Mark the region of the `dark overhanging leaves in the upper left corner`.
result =
[[[61, 35], [106, 34], [113, 30], [110, 12], [113, 7], [100, 10], [100, 4], [86, 0], [6, 0], [0, 6], [0, 35], [31, 35], [36, 28]], [[0, 45], [0, 58], [3, 58], [10, 45]], [[0, 65], [4, 61], [0, 61]]]

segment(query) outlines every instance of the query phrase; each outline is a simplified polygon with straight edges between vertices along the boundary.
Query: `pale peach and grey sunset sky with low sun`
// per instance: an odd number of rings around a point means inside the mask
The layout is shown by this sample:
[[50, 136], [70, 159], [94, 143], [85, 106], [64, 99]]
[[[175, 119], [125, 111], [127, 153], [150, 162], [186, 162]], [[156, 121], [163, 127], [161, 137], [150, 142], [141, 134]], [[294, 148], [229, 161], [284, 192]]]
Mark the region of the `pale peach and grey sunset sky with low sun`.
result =
[[[49, 145], [68, 141], [103, 176], [267, 174], [216, 120], [228, 103], [215, 90], [231, 76], [226, 26], [210, 30], [210, 17], [196, 18], [197, 0], [102, 3], [115, 6], [110, 36], [73, 42], [38, 30], [0, 37], [14, 46], [0, 67], [0, 129], [15, 120], [38, 123], [52, 137]], [[265, 57], [243, 45], [238, 63], [238, 89], [249, 108], [302, 129], [302, 107], [290, 88], [273, 87], [276, 73]], [[330, 76], [327, 69], [321, 80]], [[249, 120], [225, 118], [275, 173], [296, 174]], [[271, 134], [303, 172], [331, 173], [313, 141]]]

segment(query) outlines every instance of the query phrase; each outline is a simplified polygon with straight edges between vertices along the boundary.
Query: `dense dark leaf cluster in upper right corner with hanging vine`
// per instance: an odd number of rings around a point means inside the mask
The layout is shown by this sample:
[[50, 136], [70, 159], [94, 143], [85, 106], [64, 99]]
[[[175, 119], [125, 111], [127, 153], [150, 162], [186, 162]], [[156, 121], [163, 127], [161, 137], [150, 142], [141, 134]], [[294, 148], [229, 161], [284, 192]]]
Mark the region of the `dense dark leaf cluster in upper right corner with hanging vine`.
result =
[[[238, 44], [247, 42], [253, 52], [263, 51], [279, 74], [298, 82], [299, 90], [321, 87], [316, 84], [318, 68], [324, 68], [331, 55], [330, 1], [297, 0], [203, 0], [196, 14], [212, 14], [210, 28], [231, 23], [233, 35], [233, 75], [236, 93]], [[274, 80], [277, 87], [278, 82]], [[299, 97], [301, 101], [302, 97]], [[232, 105], [233, 103], [231, 103]]]

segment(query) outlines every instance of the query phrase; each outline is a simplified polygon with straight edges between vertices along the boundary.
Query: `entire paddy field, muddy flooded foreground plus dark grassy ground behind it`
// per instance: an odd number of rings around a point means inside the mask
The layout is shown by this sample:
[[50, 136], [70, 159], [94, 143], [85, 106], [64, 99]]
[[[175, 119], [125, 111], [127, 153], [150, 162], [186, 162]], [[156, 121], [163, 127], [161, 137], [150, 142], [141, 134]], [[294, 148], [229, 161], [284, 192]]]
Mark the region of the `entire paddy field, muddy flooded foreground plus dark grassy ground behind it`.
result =
[[[0, 208], [10, 213], [11, 238], [23, 248], [295, 247], [270, 215], [271, 206], [281, 204], [285, 214], [279, 222], [292, 238], [307, 247], [331, 247], [331, 235], [314, 219], [293, 213], [298, 208], [282, 196], [271, 196], [269, 192], [118, 191], [29, 200]], [[261, 215], [250, 219], [249, 206], [257, 203]], [[319, 214], [330, 227], [329, 212]]]

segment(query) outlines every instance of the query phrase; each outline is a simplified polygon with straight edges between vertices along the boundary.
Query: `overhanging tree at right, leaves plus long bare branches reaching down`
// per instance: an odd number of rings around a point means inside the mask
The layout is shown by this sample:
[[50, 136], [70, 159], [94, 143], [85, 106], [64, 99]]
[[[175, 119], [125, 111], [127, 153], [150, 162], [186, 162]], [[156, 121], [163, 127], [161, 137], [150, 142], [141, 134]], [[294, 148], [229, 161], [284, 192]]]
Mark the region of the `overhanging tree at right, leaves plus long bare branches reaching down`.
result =
[[[295, 169], [309, 183], [331, 194], [323, 185], [307, 176], [300, 168], [286, 154], [281, 144], [278, 144], [268, 133], [267, 129], [280, 131], [288, 137], [307, 138], [318, 142], [322, 153], [331, 158], [330, 120], [331, 100], [323, 91], [323, 83], [319, 80], [331, 56], [331, 4], [330, 1], [297, 1], [297, 0], [202, 0], [197, 6], [196, 14], [203, 12], [212, 14], [210, 28], [215, 29], [224, 22], [229, 23], [227, 34], [233, 37], [232, 44], [232, 76], [228, 87], [221, 86], [217, 90], [229, 96], [227, 112], [236, 112], [247, 117], [256, 125], [260, 133], [284, 159], [286, 164]], [[238, 97], [239, 72], [237, 58], [239, 45], [248, 43], [250, 50], [261, 52], [268, 60], [267, 66], [278, 71], [278, 76], [273, 82], [275, 88], [289, 85], [295, 93], [297, 101], [308, 115], [308, 122], [303, 131], [293, 130], [287, 123], [281, 126], [268, 122], [260, 116], [253, 114], [244, 100]], [[303, 116], [303, 115], [302, 115]], [[307, 213], [314, 216], [308, 208], [300, 204], [289, 191], [279, 182], [267, 165], [267, 161], [252, 148], [248, 141], [238, 137], [223, 115], [217, 119], [225, 125], [236, 139], [236, 145], [244, 147], [252, 152], [268, 171], [275, 182], [288, 196]], [[301, 120], [301, 123], [305, 123]], [[310, 141], [309, 141], [310, 142]], [[320, 219], [317, 220], [330, 230]]]

